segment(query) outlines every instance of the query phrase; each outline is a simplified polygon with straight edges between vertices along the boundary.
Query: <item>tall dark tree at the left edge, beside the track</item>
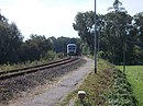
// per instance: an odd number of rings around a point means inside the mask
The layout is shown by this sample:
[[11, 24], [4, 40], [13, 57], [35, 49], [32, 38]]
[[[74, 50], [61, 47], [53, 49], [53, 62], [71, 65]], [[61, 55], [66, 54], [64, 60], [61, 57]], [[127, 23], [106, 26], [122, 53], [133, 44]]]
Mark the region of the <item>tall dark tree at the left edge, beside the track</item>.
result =
[[0, 14], [0, 63], [18, 62], [19, 48], [23, 36], [14, 23], [9, 24], [8, 20]]

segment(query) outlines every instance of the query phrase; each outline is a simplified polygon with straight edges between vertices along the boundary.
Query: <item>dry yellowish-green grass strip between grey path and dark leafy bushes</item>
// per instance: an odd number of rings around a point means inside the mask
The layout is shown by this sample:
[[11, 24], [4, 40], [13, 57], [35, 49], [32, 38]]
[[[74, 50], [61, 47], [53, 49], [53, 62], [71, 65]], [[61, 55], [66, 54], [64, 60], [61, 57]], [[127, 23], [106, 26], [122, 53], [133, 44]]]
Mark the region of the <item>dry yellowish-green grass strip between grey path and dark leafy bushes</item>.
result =
[[112, 81], [112, 69], [113, 67], [105, 61], [100, 60], [98, 62], [98, 73], [95, 74], [92, 70], [91, 73], [85, 79], [82, 84], [72, 92], [59, 105], [57, 106], [68, 106], [69, 99], [74, 99], [74, 106], [82, 106], [78, 98], [78, 91], [85, 91], [87, 93], [85, 99], [85, 106], [108, 106], [105, 94], [110, 90]]

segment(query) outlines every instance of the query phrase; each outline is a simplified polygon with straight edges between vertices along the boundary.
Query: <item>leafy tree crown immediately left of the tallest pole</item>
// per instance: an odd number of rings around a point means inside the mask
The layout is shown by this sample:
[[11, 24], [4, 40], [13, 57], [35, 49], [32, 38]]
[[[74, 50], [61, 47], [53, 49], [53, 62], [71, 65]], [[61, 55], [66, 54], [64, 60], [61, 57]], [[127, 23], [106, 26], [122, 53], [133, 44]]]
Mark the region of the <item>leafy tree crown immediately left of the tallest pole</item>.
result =
[[75, 23], [73, 27], [78, 32], [78, 36], [81, 38], [81, 42], [87, 44], [94, 52], [94, 35], [95, 35], [95, 17], [94, 12], [78, 12], [75, 17]]

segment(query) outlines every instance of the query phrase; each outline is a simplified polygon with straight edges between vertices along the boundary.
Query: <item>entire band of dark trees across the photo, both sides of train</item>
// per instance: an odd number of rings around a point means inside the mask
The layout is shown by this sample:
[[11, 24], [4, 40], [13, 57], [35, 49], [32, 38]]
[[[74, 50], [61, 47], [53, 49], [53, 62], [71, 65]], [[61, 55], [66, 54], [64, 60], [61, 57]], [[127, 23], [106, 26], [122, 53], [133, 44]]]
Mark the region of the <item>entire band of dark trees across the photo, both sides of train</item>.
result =
[[[143, 12], [132, 16], [119, 0], [114, 0], [107, 14], [97, 14], [96, 25], [96, 43], [101, 58], [122, 64], [125, 55], [127, 64], [143, 64]], [[0, 63], [46, 59], [54, 52], [66, 55], [68, 43], [76, 43], [78, 52], [94, 55], [95, 12], [78, 12], [73, 27], [80, 38], [46, 38], [31, 34], [29, 39], [23, 40], [15, 23], [9, 23], [0, 13]]]

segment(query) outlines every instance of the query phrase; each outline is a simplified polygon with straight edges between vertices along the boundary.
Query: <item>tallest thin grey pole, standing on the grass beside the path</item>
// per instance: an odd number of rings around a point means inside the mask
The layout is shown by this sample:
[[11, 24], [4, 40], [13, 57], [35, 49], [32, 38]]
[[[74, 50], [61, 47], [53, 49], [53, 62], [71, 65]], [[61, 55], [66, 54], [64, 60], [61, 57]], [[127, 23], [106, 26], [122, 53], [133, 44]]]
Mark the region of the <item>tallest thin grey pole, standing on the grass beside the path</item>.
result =
[[96, 23], [96, 0], [95, 0], [95, 73], [97, 73], [97, 23]]

